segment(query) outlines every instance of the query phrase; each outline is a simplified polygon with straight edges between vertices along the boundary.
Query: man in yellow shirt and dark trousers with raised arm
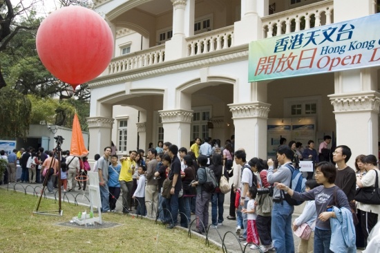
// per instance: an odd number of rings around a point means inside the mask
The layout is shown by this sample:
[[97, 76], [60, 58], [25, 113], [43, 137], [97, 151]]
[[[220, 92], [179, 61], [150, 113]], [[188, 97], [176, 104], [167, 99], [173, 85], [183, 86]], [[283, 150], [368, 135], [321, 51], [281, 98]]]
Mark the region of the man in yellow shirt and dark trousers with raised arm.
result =
[[[137, 156], [137, 151], [132, 151], [128, 157], [120, 158], [122, 163], [122, 170], [120, 171], [119, 181], [120, 187], [123, 190], [123, 213], [129, 213], [129, 208], [131, 208], [131, 197], [132, 197], [132, 187], [133, 179], [132, 176], [135, 173], [136, 162], [135, 158]], [[145, 205], [145, 203], [144, 203]]]

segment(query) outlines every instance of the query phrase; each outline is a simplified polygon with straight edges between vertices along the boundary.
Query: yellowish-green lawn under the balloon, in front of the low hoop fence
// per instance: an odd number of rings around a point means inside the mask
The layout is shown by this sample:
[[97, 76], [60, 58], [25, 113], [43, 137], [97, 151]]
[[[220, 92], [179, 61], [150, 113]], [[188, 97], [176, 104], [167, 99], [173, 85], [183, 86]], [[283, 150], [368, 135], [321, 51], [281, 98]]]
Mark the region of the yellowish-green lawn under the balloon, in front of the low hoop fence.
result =
[[[0, 252], [221, 252], [216, 245], [206, 246], [203, 238], [189, 238], [182, 229], [117, 213], [102, 215], [103, 221], [121, 224], [117, 227], [59, 226], [88, 207], [62, 203], [63, 216], [32, 214], [38, 199], [0, 189]], [[57, 209], [54, 200], [41, 200], [40, 211]]]

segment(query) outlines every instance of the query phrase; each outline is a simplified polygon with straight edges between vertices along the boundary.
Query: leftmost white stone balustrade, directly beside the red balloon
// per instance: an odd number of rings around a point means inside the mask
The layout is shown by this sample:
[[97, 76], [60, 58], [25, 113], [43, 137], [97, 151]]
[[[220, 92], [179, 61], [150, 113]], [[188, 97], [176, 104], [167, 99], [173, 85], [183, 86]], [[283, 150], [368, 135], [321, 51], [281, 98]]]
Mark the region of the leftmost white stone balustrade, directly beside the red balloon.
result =
[[108, 65], [107, 75], [159, 64], [164, 62], [164, 57], [165, 45], [153, 46], [152, 48], [116, 57]]

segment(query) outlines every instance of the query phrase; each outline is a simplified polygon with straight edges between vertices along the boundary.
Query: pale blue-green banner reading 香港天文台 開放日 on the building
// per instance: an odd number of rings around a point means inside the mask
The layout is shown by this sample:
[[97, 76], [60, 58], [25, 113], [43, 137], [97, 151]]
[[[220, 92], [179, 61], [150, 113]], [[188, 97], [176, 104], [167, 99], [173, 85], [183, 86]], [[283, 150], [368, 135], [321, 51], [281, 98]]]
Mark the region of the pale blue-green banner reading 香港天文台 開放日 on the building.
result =
[[380, 65], [380, 14], [249, 44], [249, 82]]

